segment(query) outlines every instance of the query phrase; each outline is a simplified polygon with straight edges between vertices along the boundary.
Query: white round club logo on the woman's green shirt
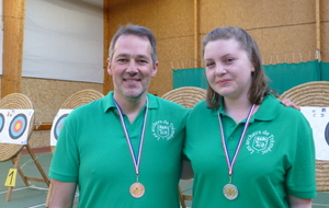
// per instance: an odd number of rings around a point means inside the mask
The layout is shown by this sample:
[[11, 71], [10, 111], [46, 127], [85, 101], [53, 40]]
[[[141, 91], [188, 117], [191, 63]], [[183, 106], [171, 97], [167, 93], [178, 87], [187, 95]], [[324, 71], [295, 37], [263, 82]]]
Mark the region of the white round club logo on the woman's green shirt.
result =
[[274, 142], [274, 136], [272, 134], [266, 130], [259, 130], [248, 135], [246, 147], [251, 154], [253, 152], [265, 154], [272, 150]]

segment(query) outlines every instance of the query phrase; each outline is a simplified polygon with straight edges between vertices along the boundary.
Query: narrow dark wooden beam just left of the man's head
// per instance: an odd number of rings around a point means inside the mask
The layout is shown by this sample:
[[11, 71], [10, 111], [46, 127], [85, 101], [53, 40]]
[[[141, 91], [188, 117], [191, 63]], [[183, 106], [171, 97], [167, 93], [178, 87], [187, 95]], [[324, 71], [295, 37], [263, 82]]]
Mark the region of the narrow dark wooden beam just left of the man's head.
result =
[[109, 57], [109, 47], [110, 47], [110, 1], [103, 0], [103, 39], [104, 39], [104, 60], [103, 60], [103, 69], [104, 69], [104, 83], [103, 83], [103, 94], [107, 94], [109, 91], [113, 90], [113, 81], [111, 76], [107, 73], [107, 57]]

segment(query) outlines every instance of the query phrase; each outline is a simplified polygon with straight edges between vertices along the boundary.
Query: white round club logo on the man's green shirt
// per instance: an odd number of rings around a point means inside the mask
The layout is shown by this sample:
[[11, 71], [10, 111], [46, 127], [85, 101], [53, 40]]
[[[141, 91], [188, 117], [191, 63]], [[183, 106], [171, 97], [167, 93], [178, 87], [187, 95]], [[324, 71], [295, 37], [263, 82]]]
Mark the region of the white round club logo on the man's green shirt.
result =
[[154, 136], [160, 139], [171, 139], [174, 135], [173, 124], [170, 124], [167, 120], [158, 120], [152, 124], [152, 134]]

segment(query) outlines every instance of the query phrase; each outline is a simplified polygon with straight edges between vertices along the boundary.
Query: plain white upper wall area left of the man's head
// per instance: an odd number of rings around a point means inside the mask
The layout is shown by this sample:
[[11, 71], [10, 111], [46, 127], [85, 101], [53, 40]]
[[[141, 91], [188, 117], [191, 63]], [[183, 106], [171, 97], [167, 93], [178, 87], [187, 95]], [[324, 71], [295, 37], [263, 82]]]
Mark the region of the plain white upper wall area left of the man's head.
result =
[[26, 0], [22, 76], [103, 83], [103, 9]]

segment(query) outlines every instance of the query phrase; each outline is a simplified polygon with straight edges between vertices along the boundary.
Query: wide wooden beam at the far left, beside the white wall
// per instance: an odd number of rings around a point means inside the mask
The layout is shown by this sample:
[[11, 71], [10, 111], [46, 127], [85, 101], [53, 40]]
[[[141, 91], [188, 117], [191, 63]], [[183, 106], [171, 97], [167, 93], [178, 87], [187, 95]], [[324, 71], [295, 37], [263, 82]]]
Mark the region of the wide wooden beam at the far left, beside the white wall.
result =
[[25, 0], [3, 0], [1, 97], [21, 92]]

